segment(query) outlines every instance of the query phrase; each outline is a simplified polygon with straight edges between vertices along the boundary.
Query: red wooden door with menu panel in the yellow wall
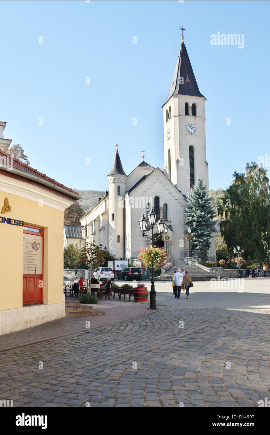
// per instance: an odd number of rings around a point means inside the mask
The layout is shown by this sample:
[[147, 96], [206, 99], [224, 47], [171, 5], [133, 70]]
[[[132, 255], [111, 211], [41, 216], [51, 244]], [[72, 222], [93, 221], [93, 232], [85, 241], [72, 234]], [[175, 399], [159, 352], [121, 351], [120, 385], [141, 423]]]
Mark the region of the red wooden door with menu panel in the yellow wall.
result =
[[23, 229], [23, 305], [43, 303], [43, 228]]

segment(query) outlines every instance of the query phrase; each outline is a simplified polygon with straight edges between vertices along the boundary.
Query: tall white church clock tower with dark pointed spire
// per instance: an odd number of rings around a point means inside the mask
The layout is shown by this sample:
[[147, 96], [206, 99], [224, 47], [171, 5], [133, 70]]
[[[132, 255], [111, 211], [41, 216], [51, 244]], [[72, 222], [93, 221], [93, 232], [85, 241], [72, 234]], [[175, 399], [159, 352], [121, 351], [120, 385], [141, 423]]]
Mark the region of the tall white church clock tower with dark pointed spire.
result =
[[162, 106], [164, 162], [171, 182], [188, 196], [198, 178], [209, 189], [204, 115], [206, 98], [199, 91], [183, 36], [181, 40], [168, 98]]

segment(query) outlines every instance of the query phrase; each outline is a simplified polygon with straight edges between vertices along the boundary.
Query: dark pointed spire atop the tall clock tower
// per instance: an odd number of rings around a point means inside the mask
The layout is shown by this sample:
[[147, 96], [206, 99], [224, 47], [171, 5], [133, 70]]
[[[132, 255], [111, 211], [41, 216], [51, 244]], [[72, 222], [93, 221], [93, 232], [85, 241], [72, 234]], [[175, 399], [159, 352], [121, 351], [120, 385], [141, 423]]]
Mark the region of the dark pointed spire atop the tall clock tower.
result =
[[193, 97], [204, 97], [199, 91], [198, 84], [196, 82], [188, 57], [188, 52], [186, 46], [184, 45], [184, 37], [181, 39], [182, 43], [175, 66], [175, 73], [171, 82], [168, 98], [165, 103], [167, 103], [172, 95], [191, 95]]

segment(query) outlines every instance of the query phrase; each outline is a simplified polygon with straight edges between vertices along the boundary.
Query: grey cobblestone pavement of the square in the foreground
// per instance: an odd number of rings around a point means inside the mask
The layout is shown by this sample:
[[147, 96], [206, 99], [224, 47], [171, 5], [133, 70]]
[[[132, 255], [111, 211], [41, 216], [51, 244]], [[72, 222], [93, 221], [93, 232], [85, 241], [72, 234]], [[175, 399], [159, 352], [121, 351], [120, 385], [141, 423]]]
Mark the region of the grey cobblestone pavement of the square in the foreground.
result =
[[[168, 287], [158, 294], [163, 311], [4, 352], [0, 399], [20, 407], [257, 406], [270, 395], [262, 291], [259, 307], [245, 293], [235, 310], [198, 308], [199, 294], [178, 301]], [[226, 296], [233, 305], [239, 295]]]

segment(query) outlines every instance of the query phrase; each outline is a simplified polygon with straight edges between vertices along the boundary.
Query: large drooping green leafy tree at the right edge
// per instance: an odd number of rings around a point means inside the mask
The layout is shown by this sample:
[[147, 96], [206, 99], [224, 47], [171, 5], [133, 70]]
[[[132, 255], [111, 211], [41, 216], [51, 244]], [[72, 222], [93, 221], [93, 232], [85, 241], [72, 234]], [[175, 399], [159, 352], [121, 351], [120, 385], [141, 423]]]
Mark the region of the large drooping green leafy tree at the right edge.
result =
[[267, 261], [270, 257], [270, 202], [267, 170], [247, 163], [245, 174], [234, 172], [234, 181], [221, 197], [221, 236], [232, 250], [239, 245], [244, 257]]

